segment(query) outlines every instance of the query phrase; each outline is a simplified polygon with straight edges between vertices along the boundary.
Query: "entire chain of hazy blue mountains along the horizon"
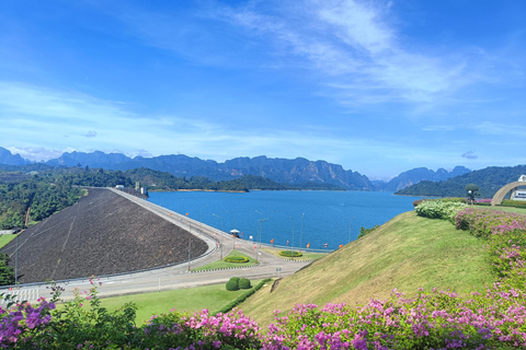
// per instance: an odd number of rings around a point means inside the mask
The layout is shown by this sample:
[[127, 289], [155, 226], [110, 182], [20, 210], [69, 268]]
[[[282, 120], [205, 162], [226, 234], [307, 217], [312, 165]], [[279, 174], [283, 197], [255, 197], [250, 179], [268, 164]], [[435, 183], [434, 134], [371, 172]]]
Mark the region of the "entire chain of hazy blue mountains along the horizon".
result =
[[[30, 161], [20, 155], [12, 155], [8, 150], [0, 148], [0, 164], [24, 164]], [[39, 163], [42, 164], [42, 163]], [[445, 180], [453, 176], [469, 172], [464, 166], [457, 166], [451, 172], [439, 168], [436, 172], [419, 167], [401, 173], [390, 182], [369, 180], [358, 172], [344, 170], [339, 164], [325, 161], [309, 161], [304, 158], [294, 160], [271, 159], [264, 155], [255, 158], [236, 158], [218, 163], [210, 160], [190, 158], [184, 154], [160, 155], [153, 158], [129, 158], [121, 153], [103, 153], [100, 151], [66, 152], [58, 159], [46, 162], [53, 166], [89, 166], [129, 171], [134, 168], [150, 168], [167, 172], [176, 177], [204, 176], [213, 182], [231, 180], [243, 176], [261, 176], [283, 186], [293, 186], [302, 189], [350, 189], [350, 190], [380, 190], [396, 191], [418, 184], [421, 180]], [[274, 185], [273, 185], [274, 186]], [[249, 186], [250, 187], [250, 186]]]

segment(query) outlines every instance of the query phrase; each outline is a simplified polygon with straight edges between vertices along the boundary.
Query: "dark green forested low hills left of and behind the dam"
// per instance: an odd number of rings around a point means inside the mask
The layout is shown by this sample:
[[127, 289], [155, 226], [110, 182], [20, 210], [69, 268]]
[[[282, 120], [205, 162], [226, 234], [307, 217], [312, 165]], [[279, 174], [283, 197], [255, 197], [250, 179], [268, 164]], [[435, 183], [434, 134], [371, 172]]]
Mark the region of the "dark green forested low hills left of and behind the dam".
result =
[[290, 189], [271, 179], [243, 176], [236, 180], [213, 182], [203, 176], [179, 178], [169, 173], [149, 168], [126, 172], [102, 168], [53, 167], [44, 164], [0, 165], [0, 230], [23, 228], [30, 211], [30, 222], [41, 221], [73, 205], [82, 190], [76, 186], [134, 187], [135, 182], [160, 190], [225, 190]]

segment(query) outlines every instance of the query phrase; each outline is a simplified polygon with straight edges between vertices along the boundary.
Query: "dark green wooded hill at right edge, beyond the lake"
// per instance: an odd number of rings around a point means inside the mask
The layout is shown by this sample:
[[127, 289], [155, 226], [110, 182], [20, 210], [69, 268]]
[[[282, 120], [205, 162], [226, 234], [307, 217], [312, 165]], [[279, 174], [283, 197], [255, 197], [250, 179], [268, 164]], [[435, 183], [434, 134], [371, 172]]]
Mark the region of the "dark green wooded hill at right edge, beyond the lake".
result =
[[466, 196], [466, 185], [476, 184], [480, 188], [481, 198], [491, 198], [502, 186], [516, 182], [524, 174], [526, 174], [526, 165], [490, 166], [444, 182], [424, 180], [399, 190], [396, 195], [464, 197]]

